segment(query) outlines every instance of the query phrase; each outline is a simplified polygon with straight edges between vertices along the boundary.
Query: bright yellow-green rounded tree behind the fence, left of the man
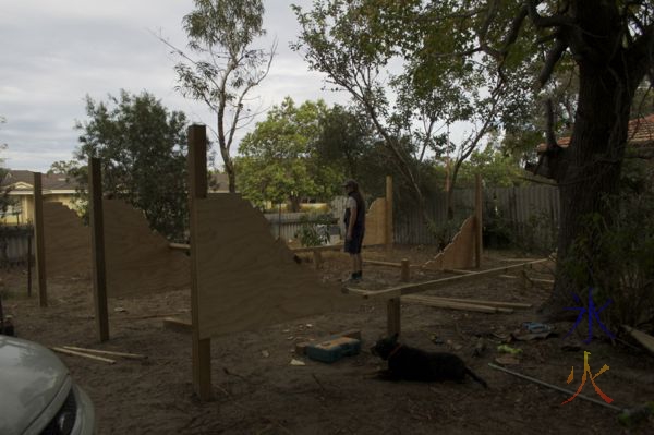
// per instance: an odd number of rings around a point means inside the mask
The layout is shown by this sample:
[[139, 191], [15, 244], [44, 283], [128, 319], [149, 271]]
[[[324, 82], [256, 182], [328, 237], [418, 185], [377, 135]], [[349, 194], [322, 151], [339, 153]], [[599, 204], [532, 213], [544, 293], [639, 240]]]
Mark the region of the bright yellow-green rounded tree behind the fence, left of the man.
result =
[[245, 197], [259, 205], [288, 200], [292, 210], [299, 209], [303, 198], [331, 197], [342, 172], [319, 165], [314, 148], [319, 120], [327, 111], [323, 100], [296, 107], [287, 97], [245, 135], [237, 159], [239, 185]]

